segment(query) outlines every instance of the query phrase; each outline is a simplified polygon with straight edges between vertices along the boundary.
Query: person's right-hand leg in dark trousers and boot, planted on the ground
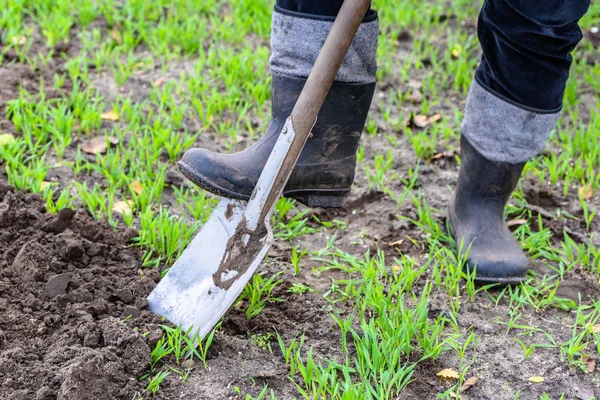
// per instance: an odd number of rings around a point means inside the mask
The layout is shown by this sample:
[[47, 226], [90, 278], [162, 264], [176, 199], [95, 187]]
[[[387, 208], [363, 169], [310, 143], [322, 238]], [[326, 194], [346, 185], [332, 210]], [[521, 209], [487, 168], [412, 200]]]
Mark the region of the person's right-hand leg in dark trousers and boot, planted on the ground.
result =
[[[461, 168], [448, 208], [451, 232], [482, 283], [514, 283], [527, 257], [504, 221], [504, 207], [527, 160], [556, 125], [581, 40], [589, 0], [486, 0], [478, 24], [483, 49], [465, 109]], [[462, 247], [460, 247], [462, 246]]]

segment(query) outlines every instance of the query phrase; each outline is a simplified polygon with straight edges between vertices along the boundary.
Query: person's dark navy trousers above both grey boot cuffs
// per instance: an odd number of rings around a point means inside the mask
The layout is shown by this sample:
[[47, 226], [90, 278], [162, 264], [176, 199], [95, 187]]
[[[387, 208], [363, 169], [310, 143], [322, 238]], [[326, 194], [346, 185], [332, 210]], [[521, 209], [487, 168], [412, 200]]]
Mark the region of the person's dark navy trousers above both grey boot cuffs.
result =
[[[283, 9], [323, 16], [335, 16], [342, 3], [277, 0]], [[559, 111], [570, 53], [582, 38], [579, 19], [589, 5], [590, 0], [485, 0], [477, 25], [483, 56], [475, 79], [515, 105]]]

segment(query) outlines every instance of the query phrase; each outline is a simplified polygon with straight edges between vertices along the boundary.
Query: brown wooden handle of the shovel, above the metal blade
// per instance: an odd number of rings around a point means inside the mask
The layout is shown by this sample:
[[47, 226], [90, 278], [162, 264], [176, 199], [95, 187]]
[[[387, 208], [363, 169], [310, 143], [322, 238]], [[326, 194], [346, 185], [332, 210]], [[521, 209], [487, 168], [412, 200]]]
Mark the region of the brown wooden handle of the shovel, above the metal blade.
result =
[[263, 208], [264, 215], [261, 217], [269, 215], [287, 183], [300, 152], [310, 135], [310, 131], [315, 125], [317, 114], [370, 5], [371, 0], [345, 0], [342, 4], [317, 61], [315, 61], [308, 80], [304, 84], [304, 88], [292, 110], [291, 119], [296, 136], [275, 178], [273, 190], [266, 201]]

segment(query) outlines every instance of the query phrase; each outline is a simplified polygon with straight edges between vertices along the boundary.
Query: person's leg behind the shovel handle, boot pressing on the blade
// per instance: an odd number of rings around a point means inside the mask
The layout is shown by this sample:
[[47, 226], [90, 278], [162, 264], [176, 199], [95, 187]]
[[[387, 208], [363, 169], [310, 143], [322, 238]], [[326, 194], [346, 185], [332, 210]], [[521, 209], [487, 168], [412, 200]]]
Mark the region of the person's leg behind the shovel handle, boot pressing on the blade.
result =
[[[341, 0], [277, 0], [271, 29], [272, 119], [265, 135], [235, 154], [192, 149], [179, 163], [198, 186], [249, 199], [342, 5]], [[319, 112], [284, 189], [309, 206], [340, 207], [354, 181], [356, 149], [375, 90], [377, 14], [370, 10]]]

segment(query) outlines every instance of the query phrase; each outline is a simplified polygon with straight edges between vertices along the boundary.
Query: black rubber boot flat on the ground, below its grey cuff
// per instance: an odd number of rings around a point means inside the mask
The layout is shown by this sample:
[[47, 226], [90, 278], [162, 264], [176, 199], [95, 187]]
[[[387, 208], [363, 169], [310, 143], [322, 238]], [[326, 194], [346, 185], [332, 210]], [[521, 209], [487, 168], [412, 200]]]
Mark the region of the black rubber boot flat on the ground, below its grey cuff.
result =
[[[515, 284], [527, 276], [527, 257], [504, 220], [504, 206], [525, 163], [489, 161], [461, 138], [458, 185], [448, 207], [456, 245], [480, 284]], [[462, 243], [462, 248], [460, 247]], [[470, 246], [470, 249], [469, 249]]]

